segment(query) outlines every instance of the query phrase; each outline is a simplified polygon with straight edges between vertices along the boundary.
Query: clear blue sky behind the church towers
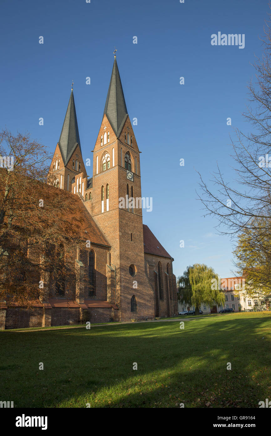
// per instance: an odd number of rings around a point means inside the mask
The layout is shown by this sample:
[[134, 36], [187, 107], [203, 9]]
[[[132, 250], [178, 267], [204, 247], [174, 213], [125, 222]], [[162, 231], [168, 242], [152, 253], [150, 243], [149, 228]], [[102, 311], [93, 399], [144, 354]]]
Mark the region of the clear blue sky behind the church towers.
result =
[[[138, 119], [142, 196], [153, 198], [144, 223], [176, 275], [199, 262], [232, 276], [231, 240], [204, 218], [196, 171], [207, 181], [218, 163], [233, 177], [229, 135], [252, 129], [241, 113], [268, 11], [268, 0], [2, 0], [0, 128], [29, 131], [53, 153], [74, 80], [82, 152], [92, 159], [116, 47], [128, 113]], [[212, 46], [219, 31], [245, 34], [244, 49]]]

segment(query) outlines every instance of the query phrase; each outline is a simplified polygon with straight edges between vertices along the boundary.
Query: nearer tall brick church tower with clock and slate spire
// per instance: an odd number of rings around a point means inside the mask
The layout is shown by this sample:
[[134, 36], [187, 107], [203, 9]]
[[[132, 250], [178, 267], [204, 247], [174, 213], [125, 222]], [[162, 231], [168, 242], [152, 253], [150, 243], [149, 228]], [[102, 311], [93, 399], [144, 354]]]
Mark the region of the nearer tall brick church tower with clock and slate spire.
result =
[[[93, 153], [91, 215], [111, 245], [109, 267], [116, 269], [120, 320], [137, 315], [153, 317], [154, 291], [145, 273], [140, 151], [116, 56]], [[135, 308], [137, 314], [133, 314]]]

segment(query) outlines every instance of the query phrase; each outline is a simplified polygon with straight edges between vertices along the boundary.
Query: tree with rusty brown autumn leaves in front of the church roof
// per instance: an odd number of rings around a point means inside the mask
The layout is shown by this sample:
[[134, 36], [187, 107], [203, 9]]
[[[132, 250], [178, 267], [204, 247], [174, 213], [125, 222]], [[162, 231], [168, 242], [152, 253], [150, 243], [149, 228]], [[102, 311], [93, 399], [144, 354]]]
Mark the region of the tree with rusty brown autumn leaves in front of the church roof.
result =
[[48, 158], [29, 133], [0, 132], [0, 300], [27, 306], [49, 276], [58, 292], [74, 280], [83, 212], [75, 214], [67, 191], [46, 183], [54, 183], [54, 174], [47, 179]]

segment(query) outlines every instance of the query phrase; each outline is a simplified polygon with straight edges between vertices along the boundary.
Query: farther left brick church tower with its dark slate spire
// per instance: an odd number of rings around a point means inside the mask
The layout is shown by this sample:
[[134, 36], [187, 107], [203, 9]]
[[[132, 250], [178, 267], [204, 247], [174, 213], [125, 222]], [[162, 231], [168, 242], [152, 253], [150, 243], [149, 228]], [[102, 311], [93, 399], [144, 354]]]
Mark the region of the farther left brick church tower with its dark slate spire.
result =
[[82, 157], [72, 88], [60, 138], [48, 174], [53, 174], [56, 187], [71, 191], [75, 177], [81, 173], [83, 173], [82, 178], [87, 177]]

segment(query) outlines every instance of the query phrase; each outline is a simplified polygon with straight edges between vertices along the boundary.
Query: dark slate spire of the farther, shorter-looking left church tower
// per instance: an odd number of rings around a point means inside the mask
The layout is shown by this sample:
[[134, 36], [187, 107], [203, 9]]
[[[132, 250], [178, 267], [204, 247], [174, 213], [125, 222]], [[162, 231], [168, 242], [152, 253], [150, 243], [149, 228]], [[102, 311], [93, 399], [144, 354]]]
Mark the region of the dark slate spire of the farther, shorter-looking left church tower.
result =
[[74, 94], [73, 89], [71, 89], [70, 100], [61, 130], [60, 138], [58, 141], [61, 155], [64, 160], [64, 165], [67, 164], [77, 144], [79, 145], [81, 151], [76, 111], [74, 105]]

